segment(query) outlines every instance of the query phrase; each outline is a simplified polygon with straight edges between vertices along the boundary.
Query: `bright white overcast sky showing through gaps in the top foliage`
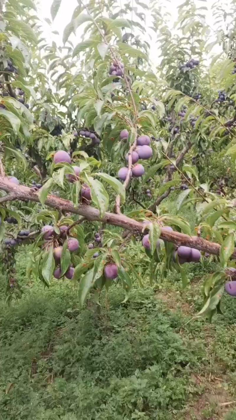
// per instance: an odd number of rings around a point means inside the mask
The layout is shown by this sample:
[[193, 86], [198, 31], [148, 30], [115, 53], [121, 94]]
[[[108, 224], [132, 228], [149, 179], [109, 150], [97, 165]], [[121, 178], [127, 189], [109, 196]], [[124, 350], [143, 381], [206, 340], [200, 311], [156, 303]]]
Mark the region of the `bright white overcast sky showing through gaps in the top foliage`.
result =
[[[39, 1], [39, 16], [40, 16], [41, 20], [43, 21], [44, 18], [50, 18], [51, 19], [50, 8], [51, 8], [51, 5], [52, 5], [52, 0], [38, 0], [38, 1]], [[177, 16], [178, 16], [177, 7], [178, 7], [179, 4], [183, 3], [183, 1], [184, 0], [171, 0], [171, 7], [169, 8], [169, 12], [171, 13], [171, 16], [172, 16], [172, 22], [170, 22], [170, 27], [172, 26], [172, 23], [174, 21], [176, 21], [176, 19], [177, 19]], [[228, 3], [228, 5], [229, 5], [229, 1], [230, 0], [225, 0], [226, 4]], [[124, 0], [120, 0], [120, 2], [122, 4], [124, 2]], [[119, 2], [119, 4], [120, 4], [120, 2]], [[143, 2], [148, 3], [147, 0], [143, 0]], [[212, 23], [213, 23], [211, 6], [214, 2], [215, 2], [215, 0], [207, 0], [206, 2], [203, 2], [201, 0], [195, 0], [196, 5], [207, 6], [208, 12], [206, 12], [206, 16], [207, 16], [207, 22], [210, 25], [212, 25]], [[163, 0], [162, 3], [164, 4], [165, 0]], [[169, 4], [170, 4], [169, 2], [166, 2], [166, 5], [169, 5]], [[45, 34], [44, 35], [49, 39], [49, 43], [50, 43], [50, 39], [51, 40], [53, 39], [57, 43], [57, 45], [62, 45], [62, 34], [63, 34], [63, 31], [64, 31], [64, 28], [67, 25], [67, 23], [70, 22], [72, 13], [73, 13], [75, 7], [77, 7], [77, 6], [78, 6], [77, 0], [62, 0], [59, 12], [58, 12], [52, 26], [50, 27], [46, 22], [44, 22], [44, 24], [45, 24], [44, 25], [44, 29], [45, 29]], [[148, 16], [147, 16], [147, 21], [148, 21]], [[52, 31], [58, 31], [60, 33], [60, 36], [52, 34]], [[77, 35], [76, 38], [75, 37], [71, 38], [72, 42], [75, 45], [78, 42], [80, 42], [79, 33], [77, 33], [76, 35]], [[150, 39], [148, 41], [150, 42]], [[155, 64], [158, 63], [158, 52], [157, 52], [157, 49], [156, 49], [155, 40], [154, 40], [154, 42], [150, 42], [150, 45], [151, 45], [150, 59], [151, 59], [152, 63], [155, 65]]]

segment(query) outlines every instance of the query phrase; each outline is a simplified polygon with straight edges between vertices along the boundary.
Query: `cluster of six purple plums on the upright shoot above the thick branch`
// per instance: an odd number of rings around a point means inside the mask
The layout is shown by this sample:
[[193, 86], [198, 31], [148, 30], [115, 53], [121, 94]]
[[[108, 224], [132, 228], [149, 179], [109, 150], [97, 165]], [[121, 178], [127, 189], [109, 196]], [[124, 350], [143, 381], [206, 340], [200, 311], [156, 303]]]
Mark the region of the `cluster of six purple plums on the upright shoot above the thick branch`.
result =
[[[122, 130], [120, 132], [120, 139], [124, 140], [127, 139], [129, 136], [129, 133], [127, 130]], [[152, 157], [153, 155], [153, 150], [152, 148], [149, 146], [151, 140], [150, 137], [147, 135], [142, 135], [139, 136], [137, 138], [137, 147], [135, 150], [132, 151], [132, 168], [131, 168], [131, 173], [130, 173], [130, 178], [133, 176], [135, 178], [139, 178], [140, 176], [143, 176], [145, 170], [143, 165], [141, 165], [140, 163], [137, 163], [137, 161], [139, 159], [150, 159], [150, 157]], [[127, 153], [127, 155], [125, 156], [126, 161], [129, 161], [129, 153]], [[118, 177], [122, 180], [125, 181], [126, 177], [128, 174], [128, 168], [127, 167], [123, 167], [120, 168], [118, 171]]]

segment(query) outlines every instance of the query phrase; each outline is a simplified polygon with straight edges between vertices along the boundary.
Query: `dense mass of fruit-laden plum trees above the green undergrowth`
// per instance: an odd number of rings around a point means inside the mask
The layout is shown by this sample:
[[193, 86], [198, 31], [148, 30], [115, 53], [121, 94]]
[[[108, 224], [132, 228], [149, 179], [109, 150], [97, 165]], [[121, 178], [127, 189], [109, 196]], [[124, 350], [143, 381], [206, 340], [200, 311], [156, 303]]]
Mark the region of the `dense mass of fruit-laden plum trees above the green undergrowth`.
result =
[[[53, 19], [64, 1], [53, 1]], [[131, 5], [128, 12], [119, 11], [119, 5], [109, 0], [99, 4], [98, 17], [97, 1], [89, 6], [85, 2], [83, 14], [76, 8], [65, 29], [65, 45], [46, 42], [42, 47], [48, 54], [39, 52], [39, 18], [31, 11], [32, 2], [3, 3], [0, 238], [9, 301], [21, 294], [13, 272], [19, 244], [26, 244], [32, 253], [29, 276], [38, 273], [49, 286], [52, 274], [61, 278], [63, 270], [63, 277], [78, 282], [81, 304], [90, 289], [97, 294], [104, 286], [108, 290], [113, 278], [127, 299], [139, 263], [129, 252], [132, 235], [137, 240], [143, 237], [145, 249], [141, 249], [140, 258], [145, 251], [151, 271], [166, 276], [169, 270], [177, 270], [183, 286], [186, 276], [178, 262], [200, 262], [205, 255], [215, 255], [215, 277], [209, 276], [203, 288], [204, 302], [209, 302], [203, 313], [211, 316], [231, 277], [226, 267], [233, 268], [236, 259], [232, 175], [236, 70], [230, 18], [227, 35], [220, 31], [222, 39], [216, 41], [221, 43], [218, 48], [227, 45], [225, 55], [208, 60], [212, 44], [204, 12], [199, 9], [200, 19], [196, 6], [190, 28], [191, 2], [185, 2], [178, 12], [181, 24], [177, 22], [172, 35], [171, 28], [166, 31], [170, 22], [163, 7], [157, 16], [155, 2], [150, 2], [150, 26], [156, 31], [162, 58], [153, 72], [148, 43], [141, 43], [138, 34], [140, 31], [145, 39], [149, 30], [140, 19], [144, 3], [138, 10]], [[236, 11], [233, 0], [231, 3]], [[214, 10], [216, 7], [213, 5]], [[137, 19], [132, 29], [135, 43], [132, 37], [120, 42], [126, 17], [130, 25], [130, 12], [135, 22]], [[89, 24], [83, 42], [72, 47], [71, 33], [84, 15]], [[13, 19], [23, 21], [17, 32]], [[37, 57], [34, 63], [28, 51]], [[209, 68], [205, 62], [203, 65], [205, 57]], [[75, 66], [78, 72], [73, 70]], [[221, 87], [218, 92], [216, 86]], [[143, 165], [137, 163], [150, 158]], [[230, 170], [223, 176], [225, 168]], [[227, 185], [215, 188], [215, 172], [218, 179], [228, 178]], [[197, 213], [198, 236], [193, 236], [195, 220], [189, 223], [191, 207]], [[125, 236], [127, 231], [130, 235]], [[93, 232], [94, 244], [99, 247], [94, 253], [89, 251], [93, 249]], [[91, 240], [88, 246], [87, 238]], [[60, 264], [56, 269], [55, 262]], [[110, 266], [115, 268], [109, 272]]]

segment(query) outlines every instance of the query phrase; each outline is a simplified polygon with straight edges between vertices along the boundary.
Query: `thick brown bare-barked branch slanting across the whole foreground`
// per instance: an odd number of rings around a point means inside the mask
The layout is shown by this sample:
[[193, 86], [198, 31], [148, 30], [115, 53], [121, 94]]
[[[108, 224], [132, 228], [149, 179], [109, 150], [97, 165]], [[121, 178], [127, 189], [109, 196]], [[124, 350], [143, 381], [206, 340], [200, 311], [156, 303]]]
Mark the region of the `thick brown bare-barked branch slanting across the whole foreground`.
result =
[[[34, 192], [27, 186], [15, 185], [6, 177], [0, 176], [0, 189], [7, 193], [15, 194], [17, 200], [39, 202], [39, 195], [37, 192]], [[113, 226], [128, 229], [137, 234], [142, 233], [144, 226], [143, 223], [121, 214], [106, 212], [104, 216], [101, 217], [99, 210], [90, 205], [82, 204], [78, 207], [74, 207], [73, 202], [54, 195], [48, 195], [45, 204], [60, 211], [79, 214], [87, 220], [98, 220], [102, 223], [109, 223]], [[161, 239], [172, 242], [176, 246], [185, 245], [213, 255], [219, 255], [220, 253], [220, 245], [215, 242], [210, 242], [197, 236], [189, 236], [179, 232], [169, 231], [165, 228], [161, 228]], [[233, 252], [232, 258], [236, 259], [236, 249]]]

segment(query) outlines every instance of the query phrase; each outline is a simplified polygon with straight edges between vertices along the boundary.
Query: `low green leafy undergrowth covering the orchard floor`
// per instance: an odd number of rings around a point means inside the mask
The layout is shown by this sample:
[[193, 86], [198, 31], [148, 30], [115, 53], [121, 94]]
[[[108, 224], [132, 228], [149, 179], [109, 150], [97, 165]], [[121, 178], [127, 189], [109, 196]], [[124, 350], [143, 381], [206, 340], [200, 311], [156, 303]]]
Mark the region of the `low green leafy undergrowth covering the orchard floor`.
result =
[[235, 301], [190, 321], [209, 265], [189, 267], [185, 291], [147, 283], [121, 304], [114, 287], [99, 310], [68, 282], [26, 282], [25, 265], [23, 299], [0, 303], [0, 420], [236, 419]]

